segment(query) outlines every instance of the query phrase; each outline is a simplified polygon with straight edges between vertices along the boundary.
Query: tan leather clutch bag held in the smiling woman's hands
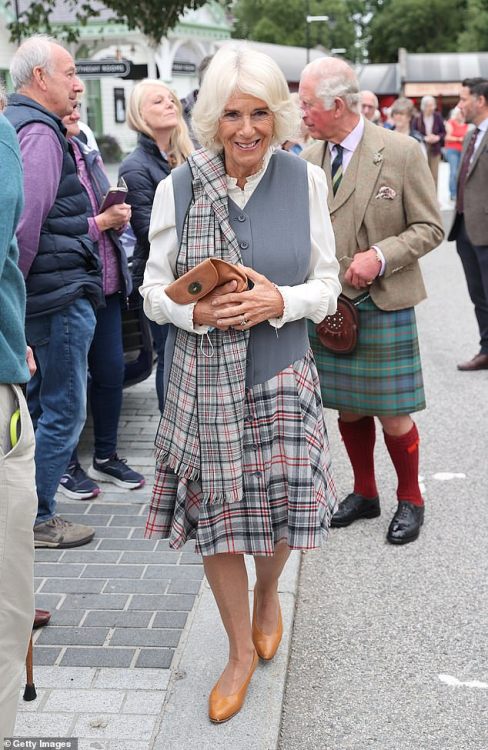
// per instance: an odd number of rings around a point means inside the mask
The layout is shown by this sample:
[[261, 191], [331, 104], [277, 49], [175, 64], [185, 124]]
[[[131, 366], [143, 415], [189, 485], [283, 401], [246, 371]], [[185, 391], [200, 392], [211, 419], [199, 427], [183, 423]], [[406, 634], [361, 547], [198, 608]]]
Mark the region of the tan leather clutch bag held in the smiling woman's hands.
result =
[[206, 258], [169, 284], [164, 291], [173, 302], [188, 305], [198, 302], [227, 281], [237, 281], [236, 292], [244, 292], [248, 288], [247, 276], [242, 268], [220, 258]]

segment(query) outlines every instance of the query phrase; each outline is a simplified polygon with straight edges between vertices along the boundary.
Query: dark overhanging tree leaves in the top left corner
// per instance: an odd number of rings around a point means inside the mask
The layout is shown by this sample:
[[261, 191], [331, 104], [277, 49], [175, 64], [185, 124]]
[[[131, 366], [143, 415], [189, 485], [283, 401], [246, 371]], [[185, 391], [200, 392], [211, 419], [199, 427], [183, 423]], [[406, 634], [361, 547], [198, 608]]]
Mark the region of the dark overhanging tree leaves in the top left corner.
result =
[[[84, 0], [81, 3], [77, 0], [62, 2], [80, 26], [85, 26], [90, 19], [99, 18], [101, 8], [105, 6], [113, 13], [107, 23], [124, 23], [129, 29], [139, 29], [157, 45], [161, 38], [176, 26], [185, 10], [199, 8], [205, 5], [207, 0], [103, 0], [103, 6], [96, 0]], [[12, 6], [13, 0], [9, 0], [9, 4]], [[51, 34], [54, 28], [56, 36], [62, 36], [68, 42], [76, 41], [79, 37], [76, 25], [64, 23], [53, 27], [51, 16], [56, 5], [59, 5], [59, 0], [30, 3], [19, 14], [18, 19], [9, 24], [12, 41], [19, 42], [22, 38], [39, 32]]]

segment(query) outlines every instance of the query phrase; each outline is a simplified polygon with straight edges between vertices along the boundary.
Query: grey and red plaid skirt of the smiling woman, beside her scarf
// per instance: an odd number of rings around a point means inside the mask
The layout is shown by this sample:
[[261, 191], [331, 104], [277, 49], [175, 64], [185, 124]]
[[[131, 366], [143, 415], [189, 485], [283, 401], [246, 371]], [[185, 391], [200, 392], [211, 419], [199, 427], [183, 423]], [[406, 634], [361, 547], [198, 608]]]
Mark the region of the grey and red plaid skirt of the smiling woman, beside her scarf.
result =
[[327, 536], [336, 505], [320, 383], [312, 352], [265, 383], [246, 389], [244, 496], [202, 503], [198, 482], [156, 467], [146, 537], [196, 552], [272, 555], [286, 540], [313, 549]]

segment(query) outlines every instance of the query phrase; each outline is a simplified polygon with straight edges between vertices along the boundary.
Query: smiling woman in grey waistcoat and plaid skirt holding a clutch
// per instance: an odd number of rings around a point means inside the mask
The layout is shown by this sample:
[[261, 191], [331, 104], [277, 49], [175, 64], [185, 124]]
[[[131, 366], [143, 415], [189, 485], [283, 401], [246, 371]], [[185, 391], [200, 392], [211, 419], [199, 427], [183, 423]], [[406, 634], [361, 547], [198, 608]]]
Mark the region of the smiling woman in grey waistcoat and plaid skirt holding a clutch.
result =
[[[290, 550], [319, 547], [335, 507], [306, 319], [335, 312], [339, 266], [324, 172], [280, 149], [298, 122], [270, 57], [215, 54], [193, 110], [202, 148], [158, 187], [141, 288], [147, 316], [171, 323], [146, 535], [173, 549], [194, 539], [203, 555], [229, 641], [209, 697], [217, 723], [279, 647]], [[211, 258], [234, 278], [206, 294]]]

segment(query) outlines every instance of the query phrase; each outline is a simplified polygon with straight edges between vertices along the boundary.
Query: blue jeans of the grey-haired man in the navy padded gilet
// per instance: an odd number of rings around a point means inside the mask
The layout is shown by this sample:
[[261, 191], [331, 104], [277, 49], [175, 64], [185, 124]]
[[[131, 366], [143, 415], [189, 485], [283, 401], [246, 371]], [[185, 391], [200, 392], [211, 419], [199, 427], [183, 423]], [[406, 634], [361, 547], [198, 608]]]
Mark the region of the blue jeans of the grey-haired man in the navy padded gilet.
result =
[[36, 427], [36, 523], [56, 513], [54, 495], [85, 424], [87, 358], [94, 330], [95, 313], [84, 298], [26, 322], [37, 363], [27, 389]]

